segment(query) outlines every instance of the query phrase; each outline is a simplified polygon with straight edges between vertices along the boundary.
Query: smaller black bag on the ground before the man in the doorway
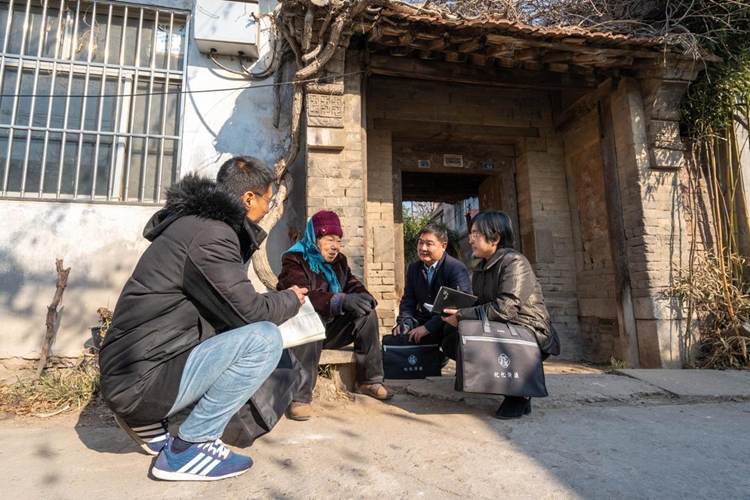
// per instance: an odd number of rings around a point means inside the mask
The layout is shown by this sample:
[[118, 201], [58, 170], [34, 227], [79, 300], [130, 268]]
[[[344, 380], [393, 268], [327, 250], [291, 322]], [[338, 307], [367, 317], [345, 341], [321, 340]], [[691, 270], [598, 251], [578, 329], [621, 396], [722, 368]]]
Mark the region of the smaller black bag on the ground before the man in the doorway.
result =
[[442, 361], [437, 344], [409, 344], [408, 335], [383, 336], [383, 372], [387, 379], [439, 377]]

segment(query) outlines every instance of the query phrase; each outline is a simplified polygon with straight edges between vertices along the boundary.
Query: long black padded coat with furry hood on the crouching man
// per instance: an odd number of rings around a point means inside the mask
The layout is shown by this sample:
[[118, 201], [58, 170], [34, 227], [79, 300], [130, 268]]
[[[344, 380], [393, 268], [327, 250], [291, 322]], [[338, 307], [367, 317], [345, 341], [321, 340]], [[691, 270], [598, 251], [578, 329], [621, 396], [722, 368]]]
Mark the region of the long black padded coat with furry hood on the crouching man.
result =
[[131, 423], [172, 408], [190, 350], [258, 321], [280, 324], [300, 307], [292, 291], [261, 294], [245, 263], [265, 238], [235, 195], [189, 175], [146, 225], [151, 245], [125, 283], [99, 354], [107, 405]]

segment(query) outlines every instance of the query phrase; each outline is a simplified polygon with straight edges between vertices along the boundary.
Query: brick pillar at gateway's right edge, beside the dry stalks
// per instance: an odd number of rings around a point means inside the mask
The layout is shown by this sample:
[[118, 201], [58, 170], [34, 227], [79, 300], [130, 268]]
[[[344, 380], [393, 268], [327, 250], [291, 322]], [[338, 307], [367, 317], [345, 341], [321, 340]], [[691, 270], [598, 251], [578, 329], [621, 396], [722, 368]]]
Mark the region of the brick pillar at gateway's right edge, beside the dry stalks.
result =
[[684, 161], [679, 151], [673, 155], [674, 165], [655, 160], [646, 124], [675, 121], [686, 85], [654, 87], [629, 78], [621, 80], [611, 96], [612, 122], [640, 362], [647, 368], [679, 368], [681, 310], [663, 292], [687, 262], [688, 232], [679, 170]]

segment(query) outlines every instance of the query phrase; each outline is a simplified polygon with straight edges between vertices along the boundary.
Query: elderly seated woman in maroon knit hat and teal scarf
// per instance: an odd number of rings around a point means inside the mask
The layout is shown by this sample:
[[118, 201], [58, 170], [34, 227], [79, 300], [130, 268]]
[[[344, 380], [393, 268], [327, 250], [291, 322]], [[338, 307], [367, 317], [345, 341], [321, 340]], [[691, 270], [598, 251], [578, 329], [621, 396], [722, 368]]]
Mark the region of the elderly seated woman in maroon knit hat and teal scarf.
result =
[[292, 420], [307, 420], [312, 414], [310, 403], [322, 349], [338, 349], [352, 342], [357, 358], [355, 392], [381, 400], [392, 397], [383, 385], [377, 303], [341, 253], [343, 236], [336, 212], [321, 210], [307, 222], [304, 237], [281, 259], [277, 288], [307, 288], [310, 302], [326, 324], [325, 340], [292, 348], [310, 373], [310, 381], [289, 405], [287, 414]]

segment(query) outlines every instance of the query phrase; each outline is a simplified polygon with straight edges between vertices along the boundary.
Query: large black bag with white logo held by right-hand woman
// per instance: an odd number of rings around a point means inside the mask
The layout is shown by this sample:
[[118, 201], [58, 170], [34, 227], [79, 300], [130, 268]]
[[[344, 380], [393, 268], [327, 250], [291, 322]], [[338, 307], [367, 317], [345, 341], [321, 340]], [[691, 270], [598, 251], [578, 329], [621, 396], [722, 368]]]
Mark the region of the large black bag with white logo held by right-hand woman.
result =
[[547, 396], [542, 352], [534, 332], [519, 325], [479, 320], [458, 323], [456, 390], [505, 396]]

